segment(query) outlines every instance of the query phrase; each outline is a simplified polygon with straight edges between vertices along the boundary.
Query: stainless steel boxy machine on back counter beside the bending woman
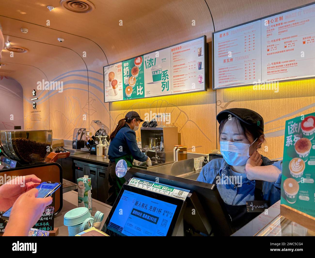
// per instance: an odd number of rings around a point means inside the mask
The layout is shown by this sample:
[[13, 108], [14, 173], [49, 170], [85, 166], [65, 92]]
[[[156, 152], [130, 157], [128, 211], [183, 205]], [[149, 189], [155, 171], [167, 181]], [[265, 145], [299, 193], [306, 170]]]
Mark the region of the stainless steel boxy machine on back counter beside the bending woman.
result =
[[152, 166], [174, 162], [173, 150], [178, 144], [178, 128], [141, 127], [141, 151], [152, 160]]

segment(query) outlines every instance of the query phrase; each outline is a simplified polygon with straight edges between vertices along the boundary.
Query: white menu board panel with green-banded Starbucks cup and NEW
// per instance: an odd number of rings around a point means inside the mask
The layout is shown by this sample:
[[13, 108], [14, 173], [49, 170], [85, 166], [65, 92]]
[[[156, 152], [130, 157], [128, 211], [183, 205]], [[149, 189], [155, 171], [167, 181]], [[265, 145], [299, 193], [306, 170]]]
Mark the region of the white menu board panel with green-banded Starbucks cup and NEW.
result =
[[169, 49], [162, 49], [143, 56], [145, 97], [171, 93], [171, 61]]

